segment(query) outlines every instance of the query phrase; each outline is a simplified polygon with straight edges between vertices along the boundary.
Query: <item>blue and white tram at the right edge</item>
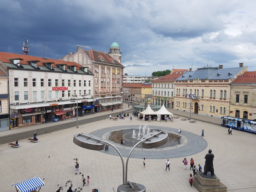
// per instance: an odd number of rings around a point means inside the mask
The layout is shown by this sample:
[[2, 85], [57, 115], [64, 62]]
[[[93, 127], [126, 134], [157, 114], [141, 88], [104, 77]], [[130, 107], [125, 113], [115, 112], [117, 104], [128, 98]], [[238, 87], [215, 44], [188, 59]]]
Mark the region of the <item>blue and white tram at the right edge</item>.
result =
[[232, 129], [238, 129], [256, 134], [256, 121], [253, 120], [223, 116], [221, 118], [221, 125], [224, 127], [231, 127]]

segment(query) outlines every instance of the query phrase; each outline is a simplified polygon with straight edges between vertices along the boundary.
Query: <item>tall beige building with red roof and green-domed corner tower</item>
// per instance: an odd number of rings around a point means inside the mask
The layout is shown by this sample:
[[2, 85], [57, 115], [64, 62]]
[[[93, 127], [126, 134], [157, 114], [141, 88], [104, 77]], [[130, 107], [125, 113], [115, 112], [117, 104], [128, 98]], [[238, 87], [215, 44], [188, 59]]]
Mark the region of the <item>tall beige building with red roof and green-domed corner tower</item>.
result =
[[[113, 46], [113, 47], [112, 47]], [[123, 91], [123, 68], [119, 45], [114, 42], [110, 47], [110, 54], [94, 49], [87, 51], [77, 47], [77, 52], [65, 55], [61, 60], [74, 61], [83, 67], [87, 67], [94, 74], [94, 97], [99, 99], [98, 111], [107, 111], [120, 108]], [[114, 58], [118, 59], [115, 60]]]

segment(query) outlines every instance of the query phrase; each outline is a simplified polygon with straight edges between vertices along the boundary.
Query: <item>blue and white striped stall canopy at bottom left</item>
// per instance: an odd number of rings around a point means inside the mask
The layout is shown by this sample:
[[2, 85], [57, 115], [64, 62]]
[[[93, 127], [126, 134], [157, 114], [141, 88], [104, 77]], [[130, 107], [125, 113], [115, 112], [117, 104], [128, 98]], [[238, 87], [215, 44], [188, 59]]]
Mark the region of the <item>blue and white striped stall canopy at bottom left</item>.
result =
[[31, 192], [44, 186], [44, 182], [39, 177], [32, 177], [30, 179], [12, 184], [20, 192]]

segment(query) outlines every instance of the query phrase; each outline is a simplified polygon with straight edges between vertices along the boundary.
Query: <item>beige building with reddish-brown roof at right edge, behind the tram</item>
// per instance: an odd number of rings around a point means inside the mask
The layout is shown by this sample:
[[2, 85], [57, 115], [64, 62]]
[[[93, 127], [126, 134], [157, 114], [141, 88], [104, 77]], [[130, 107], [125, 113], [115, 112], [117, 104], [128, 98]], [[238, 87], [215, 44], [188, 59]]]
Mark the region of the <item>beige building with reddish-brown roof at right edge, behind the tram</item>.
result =
[[243, 119], [256, 119], [256, 71], [235, 76], [230, 87], [230, 114]]

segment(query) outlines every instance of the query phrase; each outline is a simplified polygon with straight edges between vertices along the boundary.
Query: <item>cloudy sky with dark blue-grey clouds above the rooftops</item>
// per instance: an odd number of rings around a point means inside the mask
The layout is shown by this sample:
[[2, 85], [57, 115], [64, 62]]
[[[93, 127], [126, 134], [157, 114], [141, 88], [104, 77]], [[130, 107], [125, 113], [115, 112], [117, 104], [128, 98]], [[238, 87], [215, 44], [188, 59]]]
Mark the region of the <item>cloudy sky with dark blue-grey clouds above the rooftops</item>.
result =
[[192, 63], [256, 71], [255, 7], [251, 0], [1, 0], [0, 51], [20, 54], [25, 35], [29, 55], [54, 59], [78, 45], [109, 52], [116, 40], [128, 75]]

